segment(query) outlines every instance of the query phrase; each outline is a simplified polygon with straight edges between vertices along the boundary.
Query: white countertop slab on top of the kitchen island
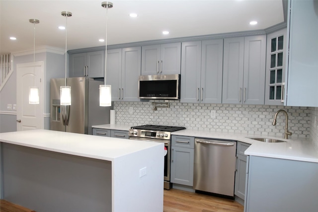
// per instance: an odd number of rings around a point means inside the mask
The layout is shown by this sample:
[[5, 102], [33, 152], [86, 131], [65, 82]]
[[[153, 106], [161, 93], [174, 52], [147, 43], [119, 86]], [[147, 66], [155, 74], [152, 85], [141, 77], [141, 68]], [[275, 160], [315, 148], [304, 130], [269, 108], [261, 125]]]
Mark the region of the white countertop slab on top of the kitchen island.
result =
[[133, 141], [50, 130], [0, 133], [0, 141], [108, 161], [162, 145], [158, 142]]

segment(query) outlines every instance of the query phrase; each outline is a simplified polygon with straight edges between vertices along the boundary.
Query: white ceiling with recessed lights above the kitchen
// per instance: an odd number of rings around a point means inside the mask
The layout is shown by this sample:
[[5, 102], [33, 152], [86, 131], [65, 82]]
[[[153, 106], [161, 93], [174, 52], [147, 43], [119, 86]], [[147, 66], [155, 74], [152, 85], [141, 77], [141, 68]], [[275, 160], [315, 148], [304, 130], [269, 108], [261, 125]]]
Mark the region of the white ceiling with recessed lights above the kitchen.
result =
[[[106, 34], [103, 0], [0, 0], [0, 54], [33, 49], [35, 45], [65, 49], [104, 46]], [[284, 22], [282, 0], [110, 0], [107, 44], [211, 35], [265, 29]], [[129, 13], [138, 14], [131, 18]], [[257, 25], [249, 22], [256, 20]], [[170, 33], [163, 35], [162, 31]], [[9, 37], [17, 39], [12, 41]]]

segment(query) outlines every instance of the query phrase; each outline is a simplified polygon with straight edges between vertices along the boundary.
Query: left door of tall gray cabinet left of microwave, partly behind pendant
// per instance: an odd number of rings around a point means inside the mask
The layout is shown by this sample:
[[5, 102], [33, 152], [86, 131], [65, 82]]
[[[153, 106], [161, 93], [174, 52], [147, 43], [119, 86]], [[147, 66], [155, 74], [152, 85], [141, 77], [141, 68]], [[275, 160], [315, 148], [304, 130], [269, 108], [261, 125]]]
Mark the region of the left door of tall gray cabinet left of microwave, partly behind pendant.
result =
[[111, 85], [111, 100], [120, 101], [122, 49], [107, 50], [106, 84]]

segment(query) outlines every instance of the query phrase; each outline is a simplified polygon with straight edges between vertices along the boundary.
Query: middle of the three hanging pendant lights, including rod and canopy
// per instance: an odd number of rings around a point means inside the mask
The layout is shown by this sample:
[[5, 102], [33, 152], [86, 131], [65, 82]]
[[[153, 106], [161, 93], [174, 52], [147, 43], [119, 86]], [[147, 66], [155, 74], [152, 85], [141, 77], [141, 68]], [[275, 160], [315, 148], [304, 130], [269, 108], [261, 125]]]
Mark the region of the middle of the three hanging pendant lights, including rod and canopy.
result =
[[60, 87], [60, 94], [61, 94], [61, 105], [71, 105], [71, 86], [66, 86], [66, 73], [67, 73], [67, 39], [68, 39], [68, 17], [72, 16], [72, 12], [63, 11], [61, 13], [63, 16], [66, 17], [65, 21], [65, 86]]

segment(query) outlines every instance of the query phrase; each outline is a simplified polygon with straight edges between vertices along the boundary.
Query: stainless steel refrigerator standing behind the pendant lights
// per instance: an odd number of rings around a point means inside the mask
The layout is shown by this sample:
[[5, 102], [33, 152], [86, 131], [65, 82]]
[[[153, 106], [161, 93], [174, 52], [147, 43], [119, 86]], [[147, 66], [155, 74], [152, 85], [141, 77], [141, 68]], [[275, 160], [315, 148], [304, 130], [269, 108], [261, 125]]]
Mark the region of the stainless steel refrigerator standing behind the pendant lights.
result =
[[70, 133], [92, 134], [92, 125], [109, 124], [111, 107], [99, 106], [99, 85], [102, 81], [87, 77], [66, 79], [71, 86], [72, 104], [60, 105], [60, 86], [65, 78], [51, 79], [50, 89], [50, 129]]

